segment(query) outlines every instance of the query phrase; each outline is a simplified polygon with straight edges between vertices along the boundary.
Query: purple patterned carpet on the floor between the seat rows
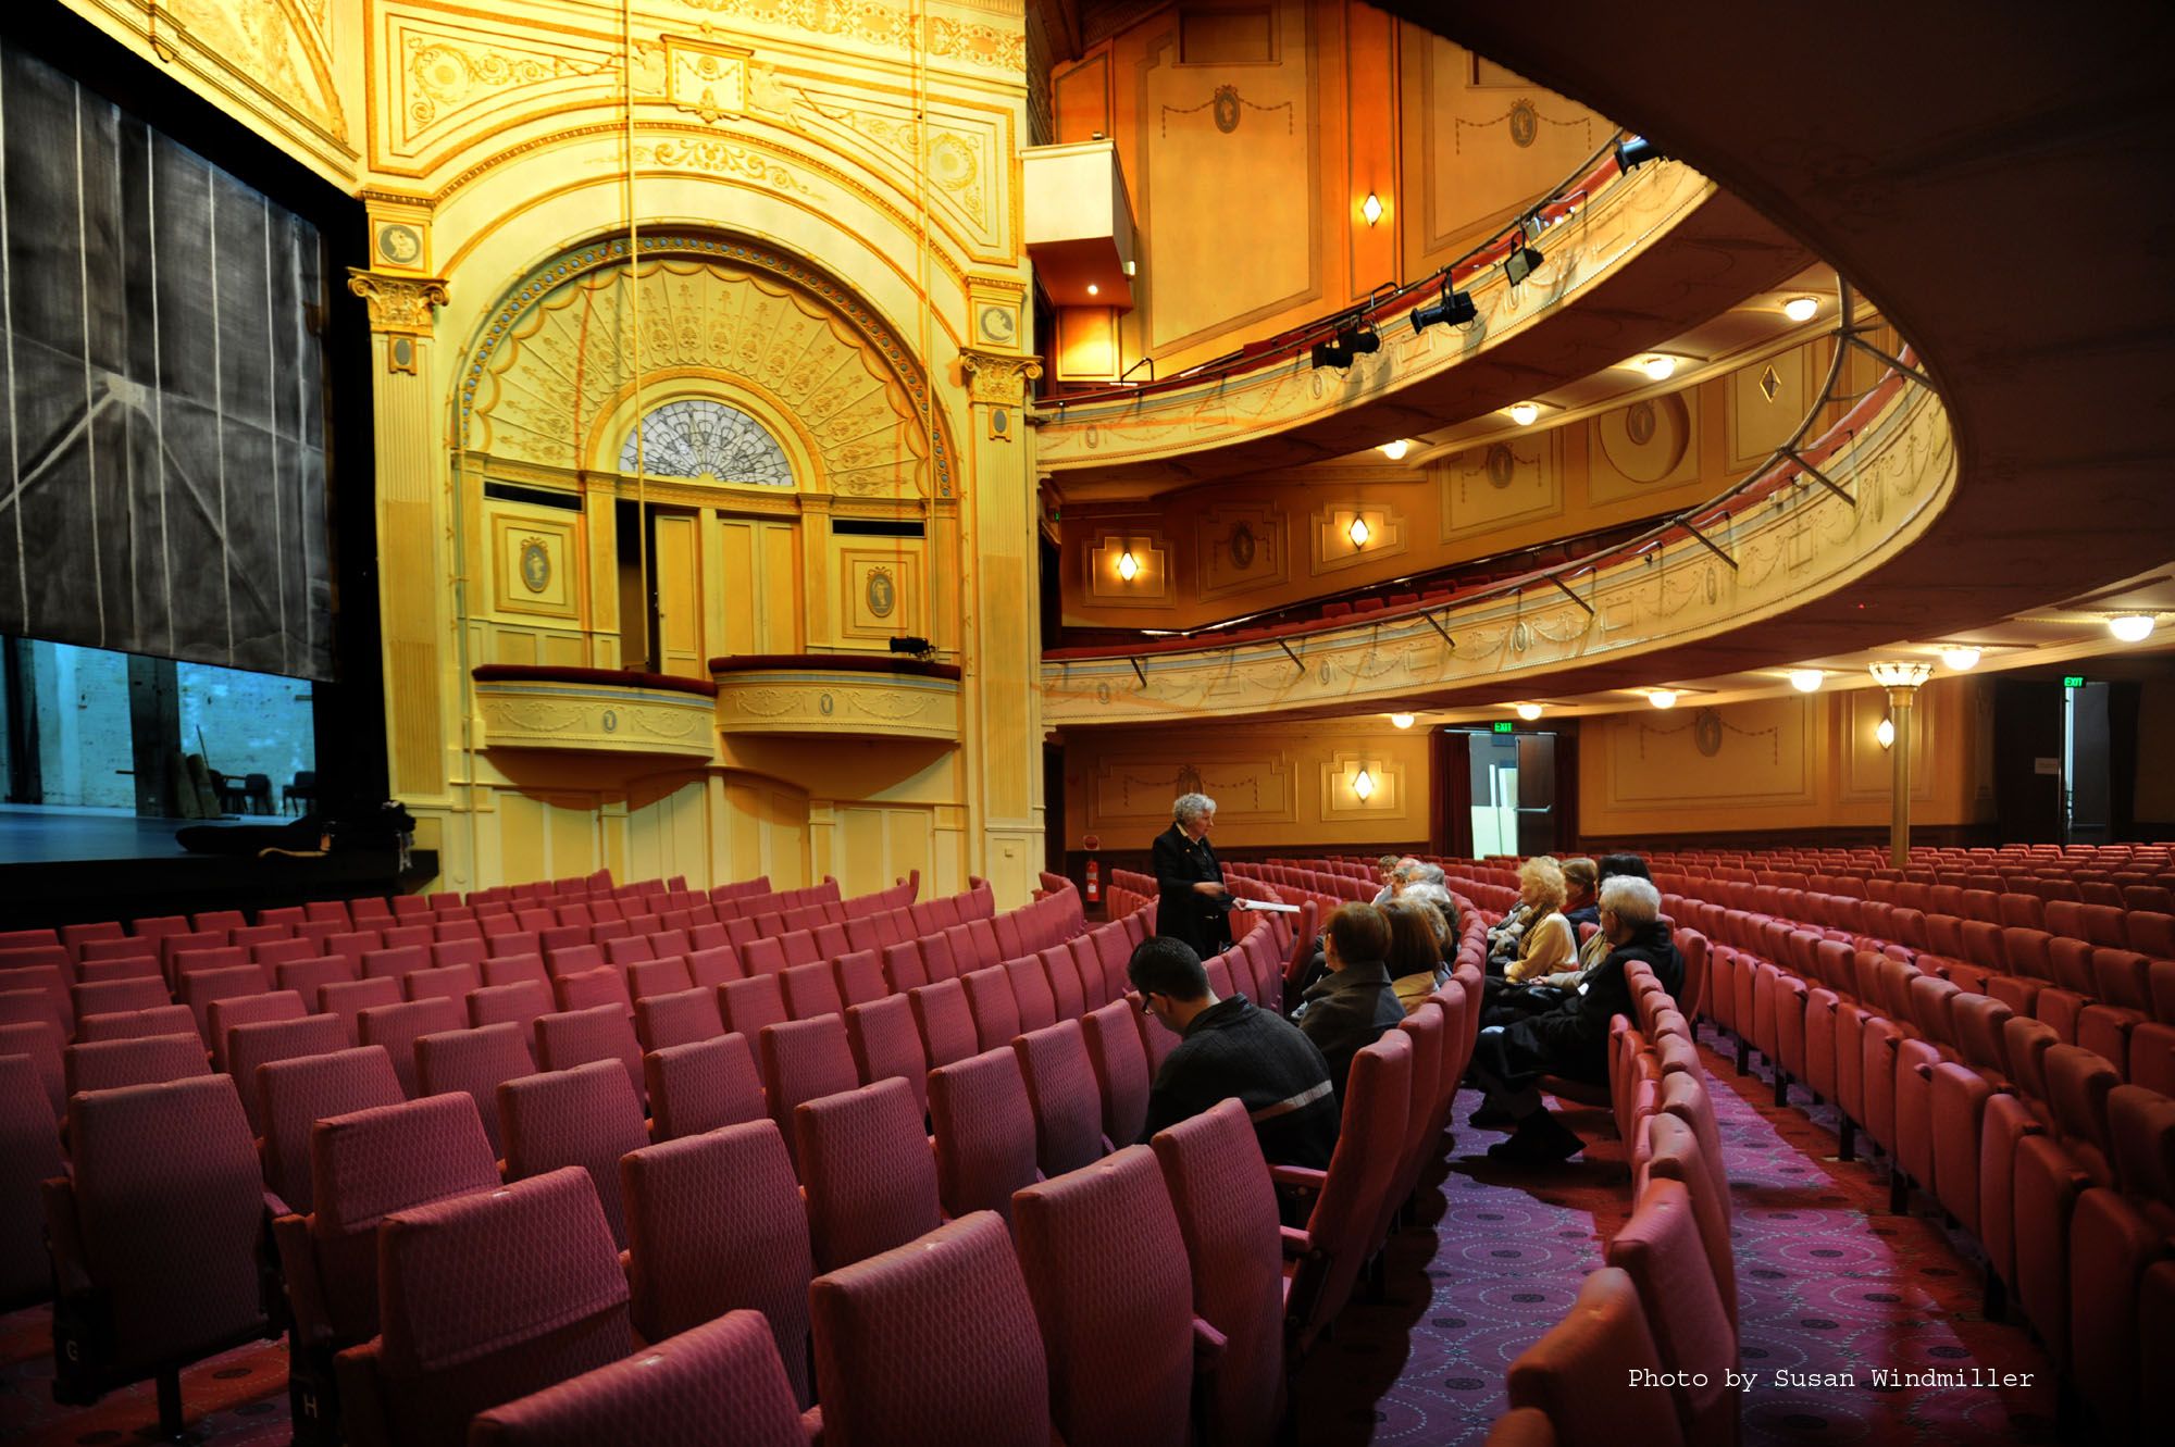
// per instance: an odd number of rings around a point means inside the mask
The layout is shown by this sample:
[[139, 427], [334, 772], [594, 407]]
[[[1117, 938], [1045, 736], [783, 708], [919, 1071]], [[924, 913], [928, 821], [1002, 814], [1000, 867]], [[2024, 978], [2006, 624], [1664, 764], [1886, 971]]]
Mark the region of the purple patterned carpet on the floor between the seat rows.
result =
[[[1938, 1221], [1890, 1217], [1881, 1171], [1834, 1160], [1829, 1110], [1775, 1110], [1760, 1075], [1703, 1049], [1736, 1206], [1742, 1291], [1744, 1440], [2051, 1443], [2055, 1393], [2023, 1328], [1979, 1317], [1979, 1269]], [[1799, 1095], [1803, 1102], [1803, 1095]], [[1357, 1301], [1298, 1380], [1298, 1440], [1479, 1443], [1505, 1408], [1509, 1362], [1601, 1264], [1631, 1208], [1625, 1147], [1607, 1112], [1564, 1119], [1590, 1141], [1570, 1165], [1509, 1171], [1481, 1154], [1501, 1136], [1466, 1130], [1459, 1099], [1449, 1171], [1420, 1219], [1390, 1243], [1385, 1291]], [[1923, 1204], [1921, 1204], [1923, 1208]], [[0, 1440], [130, 1443], [154, 1434], [150, 1384], [83, 1412], [52, 1406], [48, 1317], [0, 1317]], [[1877, 1386], [1873, 1369], [2031, 1373], [2029, 1388]], [[1779, 1386], [1775, 1373], [1855, 1375], [1855, 1386]], [[231, 1351], [183, 1375], [202, 1443], [285, 1443], [281, 1347]], [[1627, 1445], [1636, 1447], [1636, 1445]]]

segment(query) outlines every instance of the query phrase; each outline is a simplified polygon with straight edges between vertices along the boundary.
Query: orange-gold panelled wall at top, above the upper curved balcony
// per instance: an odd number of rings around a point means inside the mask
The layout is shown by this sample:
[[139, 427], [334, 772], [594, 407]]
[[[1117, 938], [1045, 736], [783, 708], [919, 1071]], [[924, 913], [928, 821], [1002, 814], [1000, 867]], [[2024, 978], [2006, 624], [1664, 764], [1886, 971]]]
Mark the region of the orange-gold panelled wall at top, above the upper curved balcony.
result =
[[1172, 4], [1051, 91], [1059, 143], [1116, 141], [1146, 248], [1131, 313], [1059, 313], [1074, 382], [1142, 356], [1168, 376], [1425, 276], [1614, 135], [1357, 0]]

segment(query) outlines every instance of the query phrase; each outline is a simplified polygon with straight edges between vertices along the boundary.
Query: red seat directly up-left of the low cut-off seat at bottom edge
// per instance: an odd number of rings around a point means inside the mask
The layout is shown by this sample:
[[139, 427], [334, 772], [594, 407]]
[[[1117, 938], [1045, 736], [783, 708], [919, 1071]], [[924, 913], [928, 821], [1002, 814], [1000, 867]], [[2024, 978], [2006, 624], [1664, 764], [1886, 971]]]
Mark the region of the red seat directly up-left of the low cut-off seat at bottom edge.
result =
[[461, 1447], [476, 1412], [635, 1345], [620, 1256], [572, 1169], [387, 1217], [378, 1282], [381, 1334], [337, 1358], [357, 1447]]

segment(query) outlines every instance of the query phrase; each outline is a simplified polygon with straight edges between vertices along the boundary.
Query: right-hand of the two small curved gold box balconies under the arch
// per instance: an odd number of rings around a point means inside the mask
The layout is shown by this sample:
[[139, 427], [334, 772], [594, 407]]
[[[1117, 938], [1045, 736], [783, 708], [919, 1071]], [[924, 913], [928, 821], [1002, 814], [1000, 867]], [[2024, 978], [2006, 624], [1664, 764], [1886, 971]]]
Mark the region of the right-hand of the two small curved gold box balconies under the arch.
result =
[[724, 734], [959, 741], [959, 665], [890, 654], [711, 658]]

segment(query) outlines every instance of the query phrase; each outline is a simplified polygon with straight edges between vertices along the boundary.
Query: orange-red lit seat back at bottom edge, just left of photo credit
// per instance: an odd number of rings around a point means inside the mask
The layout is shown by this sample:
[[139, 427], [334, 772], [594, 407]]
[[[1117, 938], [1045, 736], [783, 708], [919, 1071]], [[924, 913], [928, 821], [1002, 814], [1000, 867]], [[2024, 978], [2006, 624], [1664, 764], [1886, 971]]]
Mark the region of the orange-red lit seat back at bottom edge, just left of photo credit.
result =
[[1603, 1267], [1579, 1286], [1570, 1314], [1509, 1364], [1509, 1404], [1544, 1412], [1562, 1443], [1673, 1447], [1683, 1427], [1670, 1393], [1631, 1386], [1660, 1371], [1638, 1288], [1623, 1269]]

